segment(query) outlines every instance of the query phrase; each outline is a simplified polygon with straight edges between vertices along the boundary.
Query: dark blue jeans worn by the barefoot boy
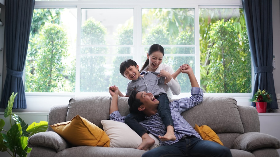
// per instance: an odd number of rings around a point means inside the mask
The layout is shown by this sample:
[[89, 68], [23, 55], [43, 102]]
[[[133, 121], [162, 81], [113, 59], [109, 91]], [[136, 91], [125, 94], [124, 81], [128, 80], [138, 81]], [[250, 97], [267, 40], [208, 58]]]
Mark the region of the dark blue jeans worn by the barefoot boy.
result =
[[[173, 124], [173, 119], [169, 107], [169, 99], [166, 93], [154, 96], [158, 101], [157, 112], [159, 113], [161, 120], [165, 127]], [[140, 121], [145, 120], [145, 114], [141, 113], [130, 113], [125, 118], [125, 123], [134, 130], [139, 136], [142, 136], [144, 133], [149, 133], [142, 125], [139, 124]]]

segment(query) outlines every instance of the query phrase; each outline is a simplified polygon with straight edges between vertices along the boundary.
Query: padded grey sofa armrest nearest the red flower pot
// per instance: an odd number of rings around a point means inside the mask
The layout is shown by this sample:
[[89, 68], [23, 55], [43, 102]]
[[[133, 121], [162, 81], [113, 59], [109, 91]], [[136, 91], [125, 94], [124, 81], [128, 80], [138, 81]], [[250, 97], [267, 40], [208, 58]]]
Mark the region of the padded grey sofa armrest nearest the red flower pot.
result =
[[233, 141], [233, 149], [254, 151], [259, 148], [280, 148], [280, 141], [271, 135], [258, 132], [248, 132], [238, 136]]

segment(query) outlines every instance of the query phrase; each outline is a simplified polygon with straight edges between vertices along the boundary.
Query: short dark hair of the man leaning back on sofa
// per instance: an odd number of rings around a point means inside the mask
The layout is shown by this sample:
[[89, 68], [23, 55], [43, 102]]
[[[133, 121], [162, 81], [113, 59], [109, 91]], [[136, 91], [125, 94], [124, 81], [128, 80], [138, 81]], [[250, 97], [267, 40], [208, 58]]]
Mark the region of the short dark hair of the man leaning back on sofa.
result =
[[138, 110], [138, 107], [140, 107], [143, 103], [140, 101], [140, 99], [136, 99], [137, 93], [138, 91], [132, 90], [131, 94], [128, 97], [128, 106], [130, 113], [142, 113], [142, 111]]

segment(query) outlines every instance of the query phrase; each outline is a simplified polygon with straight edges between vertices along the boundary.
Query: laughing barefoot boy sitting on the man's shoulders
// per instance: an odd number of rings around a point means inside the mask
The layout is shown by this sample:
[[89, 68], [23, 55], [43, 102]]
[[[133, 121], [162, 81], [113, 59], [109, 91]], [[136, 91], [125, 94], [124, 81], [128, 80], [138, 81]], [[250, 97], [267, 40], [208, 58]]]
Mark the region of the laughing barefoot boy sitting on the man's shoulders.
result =
[[[173, 79], [175, 79], [181, 73], [180, 69], [181, 67], [173, 75], [171, 75]], [[165, 72], [166, 71], [163, 71], [162, 73]], [[120, 73], [123, 77], [126, 77], [131, 81], [127, 84], [126, 95], [123, 95], [121, 92], [119, 92], [119, 96], [129, 96], [132, 90], [153, 93], [153, 95], [155, 95], [152, 98], [153, 101], [160, 100], [161, 102], [158, 105], [158, 110], [159, 115], [166, 127], [166, 134], [164, 136], [159, 136], [159, 138], [162, 141], [176, 140], [176, 137], [174, 135], [174, 124], [169, 108], [169, 99], [163, 88], [158, 87], [159, 83], [166, 84], [168, 83], [168, 80], [165, 79], [165, 77], [157, 77], [157, 74], [159, 73], [155, 72], [144, 72], [141, 73], [141, 75], [139, 72], [139, 66], [135, 61], [131, 59], [125, 60], [121, 63]], [[130, 114], [128, 114], [125, 118], [125, 123], [129, 125], [136, 133], [138, 133], [139, 136], [142, 137], [143, 145], [140, 145], [140, 147], [144, 147], [144, 149], [146, 149], [146, 145], [150, 145], [150, 143], [148, 142], [149, 140], [146, 139], [143, 135], [149, 132], [139, 124], [139, 122], [143, 120], [145, 120], [145, 115], [130, 110]]]

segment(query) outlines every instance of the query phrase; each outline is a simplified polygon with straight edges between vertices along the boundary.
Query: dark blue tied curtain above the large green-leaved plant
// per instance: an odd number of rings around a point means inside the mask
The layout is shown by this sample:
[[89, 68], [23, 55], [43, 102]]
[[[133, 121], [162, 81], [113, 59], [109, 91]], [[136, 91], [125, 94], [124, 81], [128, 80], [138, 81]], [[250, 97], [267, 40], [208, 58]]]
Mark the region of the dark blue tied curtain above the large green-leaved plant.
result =
[[6, 108], [12, 92], [18, 93], [13, 108], [26, 108], [22, 81], [35, 0], [6, 0], [5, 35], [7, 76], [0, 108]]

